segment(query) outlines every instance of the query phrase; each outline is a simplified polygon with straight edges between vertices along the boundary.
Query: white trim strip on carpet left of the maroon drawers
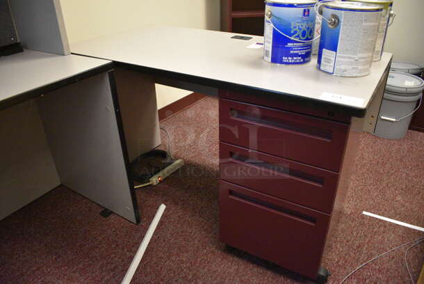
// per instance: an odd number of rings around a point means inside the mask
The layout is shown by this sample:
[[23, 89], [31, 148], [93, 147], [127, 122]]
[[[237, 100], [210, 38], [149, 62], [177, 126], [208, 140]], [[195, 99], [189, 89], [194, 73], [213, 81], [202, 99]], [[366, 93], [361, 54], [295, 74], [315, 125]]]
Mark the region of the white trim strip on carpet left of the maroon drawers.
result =
[[156, 226], [158, 226], [159, 221], [161, 220], [162, 214], [165, 211], [166, 206], [161, 205], [159, 206], [158, 211], [156, 212], [156, 215], [154, 216], [154, 219], [152, 223], [149, 226], [149, 230], [147, 230], [145, 237], [142, 239], [142, 242], [140, 244], [140, 247], [138, 248], [138, 251], [136, 255], [133, 258], [133, 261], [131, 262], [131, 265], [129, 266], [129, 269], [127, 270], [127, 274], [125, 274], [124, 279], [122, 280], [121, 284], [129, 284], [131, 283], [131, 279], [134, 276], [134, 273], [136, 273], [136, 269], [138, 265], [140, 264], [142, 255], [145, 254], [147, 245], [150, 242], [150, 239], [152, 239], [152, 235], [154, 233], [154, 230], [156, 230]]

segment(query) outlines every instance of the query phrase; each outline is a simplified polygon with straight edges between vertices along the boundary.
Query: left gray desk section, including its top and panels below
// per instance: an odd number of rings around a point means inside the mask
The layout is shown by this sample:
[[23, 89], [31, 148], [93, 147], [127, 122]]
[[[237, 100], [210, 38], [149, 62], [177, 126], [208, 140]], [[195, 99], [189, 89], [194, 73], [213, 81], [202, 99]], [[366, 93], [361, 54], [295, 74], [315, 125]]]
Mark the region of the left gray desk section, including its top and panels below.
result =
[[24, 50], [0, 74], [0, 219], [64, 184], [138, 223], [113, 63]]

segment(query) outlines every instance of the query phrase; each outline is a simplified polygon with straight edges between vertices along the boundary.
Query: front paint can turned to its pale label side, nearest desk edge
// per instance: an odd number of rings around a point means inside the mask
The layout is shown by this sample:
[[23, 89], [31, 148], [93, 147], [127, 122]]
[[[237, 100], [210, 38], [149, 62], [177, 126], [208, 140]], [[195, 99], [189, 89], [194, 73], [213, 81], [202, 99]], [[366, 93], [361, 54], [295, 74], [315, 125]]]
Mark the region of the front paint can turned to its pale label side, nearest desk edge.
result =
[[382, 10], [368, 3], [324, 3], [318, 69], [343, 77], [370, 74]]

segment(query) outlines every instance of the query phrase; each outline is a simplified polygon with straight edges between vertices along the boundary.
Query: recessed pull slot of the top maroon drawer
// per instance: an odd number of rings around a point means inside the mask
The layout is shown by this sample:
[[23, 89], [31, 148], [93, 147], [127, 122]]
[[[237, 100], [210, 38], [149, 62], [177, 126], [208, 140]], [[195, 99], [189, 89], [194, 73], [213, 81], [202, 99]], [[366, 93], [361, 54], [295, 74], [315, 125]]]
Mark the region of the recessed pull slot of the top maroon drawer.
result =
[[279, 129], [288, 130], [291, 132], [296, 132], [297, 134], [311, 136], [315, 139], [322, 139], [325, 141], [332, 140], [332, 131], [327, 129], [317, 129], [316, 127], [306, 127], [302, 125], [302, 127], [298, 124], [294, 125], [289, 121], [284, 121], [282, 119], [271, 118], [262, 115], [252, 115], [252, 113], [248, 113], [246, 111], [239, 111], [236, 109], [230, 109], [229, 115], [233, 118], [244, 120], [250, 123], [260, 123], [262, 125], [270, 125], [272, 127], [277, 127]]

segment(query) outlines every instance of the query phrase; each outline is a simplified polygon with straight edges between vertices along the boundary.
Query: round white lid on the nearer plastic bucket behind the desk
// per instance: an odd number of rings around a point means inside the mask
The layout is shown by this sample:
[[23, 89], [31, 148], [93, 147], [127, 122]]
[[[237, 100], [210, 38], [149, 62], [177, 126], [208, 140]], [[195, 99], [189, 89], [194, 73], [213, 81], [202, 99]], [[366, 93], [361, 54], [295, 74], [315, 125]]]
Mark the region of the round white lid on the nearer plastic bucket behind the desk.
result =
[[423, 79], [404, 72], [389, 72], [386, 90], [392, 93], [416, 94], [424, 89]]

